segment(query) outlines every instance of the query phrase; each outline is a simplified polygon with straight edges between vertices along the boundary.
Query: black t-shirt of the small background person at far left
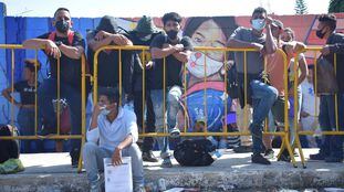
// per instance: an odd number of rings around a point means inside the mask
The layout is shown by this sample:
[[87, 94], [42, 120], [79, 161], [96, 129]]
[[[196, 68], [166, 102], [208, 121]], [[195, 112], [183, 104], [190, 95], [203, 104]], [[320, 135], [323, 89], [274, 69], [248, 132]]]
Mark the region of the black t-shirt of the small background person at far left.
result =
[[[38, 86], [40, 83], [38, 82]], [[30, 86], [28, 81], [20, 81], [14, 84], [14, 90], [20, 94], [22, 105], [34, 105], [35, 87]]]

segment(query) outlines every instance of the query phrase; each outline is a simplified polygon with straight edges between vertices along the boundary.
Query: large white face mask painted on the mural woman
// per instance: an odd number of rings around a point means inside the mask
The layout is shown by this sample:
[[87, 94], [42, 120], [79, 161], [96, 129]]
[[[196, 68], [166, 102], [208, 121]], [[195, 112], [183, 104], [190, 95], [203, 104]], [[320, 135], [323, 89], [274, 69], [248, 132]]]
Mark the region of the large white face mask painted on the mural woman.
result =
[[[206, 74], [205, 74], [205, 57], [206, 57]], [[197, 78], [204, 78], [210, 76], [220, 71], [223, 66], [223, 62], [218, 62], [205, 55], [202, 52], [192, 52], [189, 62], [186, 67]]]

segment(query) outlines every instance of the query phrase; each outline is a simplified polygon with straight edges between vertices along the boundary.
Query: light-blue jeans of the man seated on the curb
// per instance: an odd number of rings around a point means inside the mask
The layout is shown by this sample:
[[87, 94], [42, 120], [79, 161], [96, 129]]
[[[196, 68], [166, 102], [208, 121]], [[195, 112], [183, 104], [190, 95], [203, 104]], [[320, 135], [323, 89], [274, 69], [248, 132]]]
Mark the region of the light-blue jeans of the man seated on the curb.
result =
[[[87, 179], [91, 184], [100, 182], [100, 170], [104, 171], [104, 158], [111, 158], [114, 151], [101, 148], [94, 142], [86, 142], [83, 148], [84, 166], [87, 173]], [[136, 143], [122, 150], [123, 157], [132, 158], [132, 172], [134, 188], [144, 184], [144, 168], [142, 153]]]

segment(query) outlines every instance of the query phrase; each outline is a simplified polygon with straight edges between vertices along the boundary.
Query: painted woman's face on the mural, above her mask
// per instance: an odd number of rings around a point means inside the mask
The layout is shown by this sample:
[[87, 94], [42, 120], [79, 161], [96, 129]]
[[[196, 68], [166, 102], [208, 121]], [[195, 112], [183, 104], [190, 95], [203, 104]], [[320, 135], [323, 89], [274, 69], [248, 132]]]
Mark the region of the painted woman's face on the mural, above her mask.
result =
[[[205, 21], [199, 25], [191, 40], [195, 46], [225, 47], [227, 42], [226, 35], [213, 20]], [[207, 52], [207, 56], [223, 62], [223, 52]]]

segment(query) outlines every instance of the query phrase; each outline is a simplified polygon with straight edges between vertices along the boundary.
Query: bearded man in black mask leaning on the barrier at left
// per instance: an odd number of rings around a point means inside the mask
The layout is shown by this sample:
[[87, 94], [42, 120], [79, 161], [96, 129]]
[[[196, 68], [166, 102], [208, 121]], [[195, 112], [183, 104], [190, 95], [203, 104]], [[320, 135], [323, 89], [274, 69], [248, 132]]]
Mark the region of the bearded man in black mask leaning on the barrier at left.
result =
[[[53, 26], [56, 31], [42, 34], [23, 43], [25, 49], [42, 49], [49, 57], [50, 75], [38, 88], [39, 132], [41, 136], [56, 134], [58, 121], [52, 100], [58, 96], [58, 79], [60, 76], [60, 96], [66, 98], [72, 120], [72, 135], [81, 135], [81, 57], [85, 41], [79, 32], [71, 30], [73, 22], [66, 8], [59, 8], [54, 13]], [[58, 74], [58, 58], [60, 73]], [[43, 126], [42, 126], [43, 125]], [[80, 139], [71, 141], [72, 166], [76, 167], [80, 156]]]

